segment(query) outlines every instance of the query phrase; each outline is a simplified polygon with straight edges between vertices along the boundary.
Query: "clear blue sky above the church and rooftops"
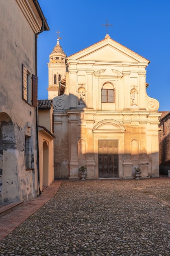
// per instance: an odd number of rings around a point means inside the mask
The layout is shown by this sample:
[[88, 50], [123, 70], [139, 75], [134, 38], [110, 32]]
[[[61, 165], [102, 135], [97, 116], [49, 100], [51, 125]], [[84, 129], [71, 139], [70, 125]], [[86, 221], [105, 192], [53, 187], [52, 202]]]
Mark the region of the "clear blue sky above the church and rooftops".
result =
[[38, 37], [38, 99], [48, 99], [49, 54], [57, 43], [70, 56], [105, 38], [150, 61], [146, 68], [147, 94], [159, 101], [159, 111], [170, 110], [169, 0], [38, 0], [50, 31]]

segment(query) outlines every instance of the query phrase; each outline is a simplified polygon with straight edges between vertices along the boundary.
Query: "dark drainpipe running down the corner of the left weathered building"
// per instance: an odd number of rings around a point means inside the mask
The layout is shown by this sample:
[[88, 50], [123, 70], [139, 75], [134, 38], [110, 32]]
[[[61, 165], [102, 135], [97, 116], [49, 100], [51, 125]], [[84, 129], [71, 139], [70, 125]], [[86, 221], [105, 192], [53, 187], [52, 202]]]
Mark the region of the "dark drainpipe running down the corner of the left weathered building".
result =
[[[35, 75], [37, 76], [37, 36], [44, 31], [44, 20], [42, 20], [41, 30], [35, 34]], [[39, 188], [39, 143], [38, 143], [38, 107], [35, 107], [36, 111], [36, 135], [37, 135], [37, 169], [38, 169], [38, 188]], [[39, 195], [41, 190], [39, 188]]]

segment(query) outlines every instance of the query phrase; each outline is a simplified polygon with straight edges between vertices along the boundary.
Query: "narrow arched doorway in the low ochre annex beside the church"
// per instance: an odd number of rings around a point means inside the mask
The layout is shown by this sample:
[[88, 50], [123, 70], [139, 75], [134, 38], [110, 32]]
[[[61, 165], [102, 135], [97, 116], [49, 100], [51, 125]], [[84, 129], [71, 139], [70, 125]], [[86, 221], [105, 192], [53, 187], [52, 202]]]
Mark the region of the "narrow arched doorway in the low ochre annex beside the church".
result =
[[48, 186], [48, 144], [43, 142], [43, 186]]

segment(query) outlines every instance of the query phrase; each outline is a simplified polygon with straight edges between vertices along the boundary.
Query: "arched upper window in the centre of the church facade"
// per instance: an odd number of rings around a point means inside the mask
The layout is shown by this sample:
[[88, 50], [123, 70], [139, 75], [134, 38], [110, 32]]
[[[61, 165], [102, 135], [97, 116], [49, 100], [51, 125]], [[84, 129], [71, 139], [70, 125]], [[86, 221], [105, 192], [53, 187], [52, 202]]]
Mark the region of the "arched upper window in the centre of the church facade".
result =
[[102, 87], [102, 102], [114, 103], [114, 88], [111, 83], [105, 83]]

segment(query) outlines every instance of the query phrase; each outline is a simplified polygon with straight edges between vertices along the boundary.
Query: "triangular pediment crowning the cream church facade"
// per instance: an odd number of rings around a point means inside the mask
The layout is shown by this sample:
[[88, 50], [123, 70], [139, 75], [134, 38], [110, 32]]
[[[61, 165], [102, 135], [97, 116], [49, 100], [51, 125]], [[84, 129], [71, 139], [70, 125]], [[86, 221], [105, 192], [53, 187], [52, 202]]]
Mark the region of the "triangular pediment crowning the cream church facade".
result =
[[82, 61], [110, 61], [110, 62], [137, 62], [149, 63], [139, 54], [117, 43], [111, 38], [106, 38], [90, 47], [83, 49], [68, 57], [71, 60]]

